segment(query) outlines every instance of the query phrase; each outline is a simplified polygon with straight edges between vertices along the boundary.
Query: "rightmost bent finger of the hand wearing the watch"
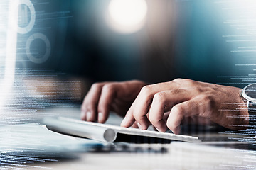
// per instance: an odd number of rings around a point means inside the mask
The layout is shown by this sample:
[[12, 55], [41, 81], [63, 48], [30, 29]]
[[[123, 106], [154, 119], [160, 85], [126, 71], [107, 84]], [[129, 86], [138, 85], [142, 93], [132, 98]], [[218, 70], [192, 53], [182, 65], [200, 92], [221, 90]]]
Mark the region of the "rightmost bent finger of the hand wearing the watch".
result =
[[190, 116], [207, 116], [204, 115], [206, 113], [206, 105], [203, 102], [201, 96], [193, 98], [189, 101], [185, 101], [183, 103], [179, 103], [171, 108], [171, 112], [169, 114], [169, 118], [167, 119], [166, 125], [167, 127], [178, 134], [180, 131], [180, 125], [182, 120], [185, 117]]

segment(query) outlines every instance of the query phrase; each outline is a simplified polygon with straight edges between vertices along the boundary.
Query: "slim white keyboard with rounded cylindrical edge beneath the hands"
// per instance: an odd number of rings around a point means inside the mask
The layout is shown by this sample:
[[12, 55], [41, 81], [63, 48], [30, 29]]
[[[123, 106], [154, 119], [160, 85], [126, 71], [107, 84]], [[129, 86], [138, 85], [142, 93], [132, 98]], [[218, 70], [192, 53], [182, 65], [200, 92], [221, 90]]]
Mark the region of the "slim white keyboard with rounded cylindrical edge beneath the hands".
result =
[[87, 137], [102, 142], [114, 142], [118, 134], [137, 135], [142, 137], [156, 137], [166, 140], [185, 142], [201, 142], [198, 137], [188, 135], [175, 135], [170, 132], [156, 132], [151, 130], [139, 130], [137, 128], [124, 128], [117, 125], [92, 123], [72, 118], [46, 118], [43, 123], [53, 131], [62, 132], [68, 135]]

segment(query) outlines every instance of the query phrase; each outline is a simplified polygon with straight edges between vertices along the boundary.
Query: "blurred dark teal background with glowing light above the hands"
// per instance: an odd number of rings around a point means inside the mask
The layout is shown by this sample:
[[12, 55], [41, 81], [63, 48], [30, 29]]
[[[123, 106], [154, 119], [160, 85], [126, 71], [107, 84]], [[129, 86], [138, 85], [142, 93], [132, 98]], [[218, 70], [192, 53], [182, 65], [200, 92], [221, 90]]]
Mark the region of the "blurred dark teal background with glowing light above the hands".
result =
[[82, 103], [97, 81], [255, 82], [254, 0], [14, 3], [11, 9], [11, 1], [1, 1], [1, 69], [9, 68], [4, 57], [10, 53], [15, 61], [6, 108]]

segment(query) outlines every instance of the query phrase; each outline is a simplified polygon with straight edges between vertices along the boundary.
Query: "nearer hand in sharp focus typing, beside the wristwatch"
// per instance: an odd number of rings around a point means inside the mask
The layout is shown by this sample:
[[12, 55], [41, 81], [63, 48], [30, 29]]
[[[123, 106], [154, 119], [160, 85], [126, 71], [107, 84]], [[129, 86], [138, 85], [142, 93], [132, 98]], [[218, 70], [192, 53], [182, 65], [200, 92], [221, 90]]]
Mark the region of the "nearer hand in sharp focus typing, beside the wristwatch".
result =
[[234, 125], [249, 123], [240, 90], [188, 79], [144, 86], [121, 125], [129, 127], [136, 120], [144, 130], [152, 124], [160, 132], [169, 128], [178, 134], [183, 120], [190, 119], [238, 130]]

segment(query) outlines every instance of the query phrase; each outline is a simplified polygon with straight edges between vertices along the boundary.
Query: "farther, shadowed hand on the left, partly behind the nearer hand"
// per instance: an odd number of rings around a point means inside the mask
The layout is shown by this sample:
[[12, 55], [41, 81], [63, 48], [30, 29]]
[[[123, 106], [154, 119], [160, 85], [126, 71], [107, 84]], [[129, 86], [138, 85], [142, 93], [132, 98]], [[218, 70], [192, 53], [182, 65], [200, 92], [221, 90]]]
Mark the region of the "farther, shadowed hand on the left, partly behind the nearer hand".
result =
[[124, 117], [145, 85], [135, 80], [93, 84], [82, 103], [81, 119], [105, 123], [110, 111]]

